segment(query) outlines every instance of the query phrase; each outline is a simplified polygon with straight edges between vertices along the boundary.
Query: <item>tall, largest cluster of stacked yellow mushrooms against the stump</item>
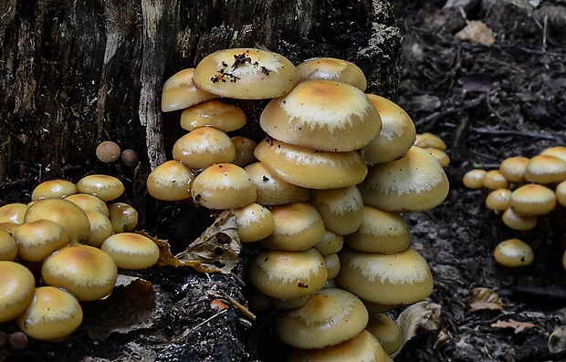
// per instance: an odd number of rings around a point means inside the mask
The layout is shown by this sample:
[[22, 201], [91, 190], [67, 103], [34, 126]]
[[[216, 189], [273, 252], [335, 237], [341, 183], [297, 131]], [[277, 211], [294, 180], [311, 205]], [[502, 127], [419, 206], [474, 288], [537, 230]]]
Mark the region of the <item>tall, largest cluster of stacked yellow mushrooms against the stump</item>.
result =
[[[349, 61], [294, 66], [254, 48], [217, 51], [163, 84], [162, 110], [180, 111], [189, 132], [150, 173], [148, 191], [234, 210], [240, 241], [258, 242], [248, 278], [258, 300], [279, 308], [289, 360], [346, 360], [353, 348], [360, 360], [383, 361], [399, 335], [364, 332], [368, 321], [432, 293], [402, 212], [443, 202], [448, 181], [414, 146], [404, 109], [366, 87]], [[248, 138], [242, 109], [263, 105], [263, 140]]]

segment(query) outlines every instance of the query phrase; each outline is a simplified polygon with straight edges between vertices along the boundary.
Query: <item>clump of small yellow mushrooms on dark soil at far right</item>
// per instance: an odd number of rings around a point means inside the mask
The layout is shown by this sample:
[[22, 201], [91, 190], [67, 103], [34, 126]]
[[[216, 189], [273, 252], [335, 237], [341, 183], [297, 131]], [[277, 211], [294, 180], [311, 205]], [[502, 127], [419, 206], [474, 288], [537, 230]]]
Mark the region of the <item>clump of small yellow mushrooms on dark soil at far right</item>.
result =
[[[495, 170], [467, 171], [463, 183], [482, 190], [487, 208], [510, 229], [528, 232], [541, 220], [560, 225], [549, 220], [566, 206], [566, 147], [550, 147], [531, 158], [509, 157]], [[498, 244], [494, 257], [499, 264], [516, 267], [529, 265], [534, 254], [529, 243], [509, 239]]]

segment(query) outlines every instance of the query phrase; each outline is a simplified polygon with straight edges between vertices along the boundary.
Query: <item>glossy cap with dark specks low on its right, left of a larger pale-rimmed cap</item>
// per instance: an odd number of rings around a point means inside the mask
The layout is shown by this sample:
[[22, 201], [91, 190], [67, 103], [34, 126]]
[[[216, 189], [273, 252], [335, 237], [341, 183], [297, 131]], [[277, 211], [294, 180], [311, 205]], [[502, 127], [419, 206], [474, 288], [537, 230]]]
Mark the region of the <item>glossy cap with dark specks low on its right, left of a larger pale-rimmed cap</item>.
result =
[[324, 259], [314, 249], [260, 252], [252, 260], [247, 274], [258, 291], [284, 300], [318, 292], [327, 277]]

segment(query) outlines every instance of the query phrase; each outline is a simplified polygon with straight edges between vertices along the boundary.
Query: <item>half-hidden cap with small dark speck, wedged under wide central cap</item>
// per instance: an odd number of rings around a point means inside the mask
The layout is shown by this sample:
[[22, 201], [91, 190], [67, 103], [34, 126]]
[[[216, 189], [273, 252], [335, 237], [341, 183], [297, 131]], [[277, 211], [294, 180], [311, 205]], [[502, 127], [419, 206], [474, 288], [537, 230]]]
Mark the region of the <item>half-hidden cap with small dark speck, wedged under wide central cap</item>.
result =
[[275, 206], [309, 200], [309, 189], [279, 179], [263, 162], [251, 163], [244, 169], [256, 186], [259, 204]]

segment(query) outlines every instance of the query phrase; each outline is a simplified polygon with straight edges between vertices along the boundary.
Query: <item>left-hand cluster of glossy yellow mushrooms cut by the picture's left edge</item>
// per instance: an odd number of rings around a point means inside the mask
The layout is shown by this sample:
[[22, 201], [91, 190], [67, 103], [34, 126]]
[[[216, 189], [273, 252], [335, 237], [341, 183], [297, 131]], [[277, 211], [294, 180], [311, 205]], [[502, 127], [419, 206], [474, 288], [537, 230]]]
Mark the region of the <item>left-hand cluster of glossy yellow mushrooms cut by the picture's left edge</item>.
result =
[[0, 323], [63, 340], [82, 321], [80, 303], [110, 295], [121, 269], [157, 262], [157, 245], [132, 233], [138, 212], [116, 201], [123, 191], [119, 179], [93, 174], [42, 182], [31, 202], [0, 207]]

